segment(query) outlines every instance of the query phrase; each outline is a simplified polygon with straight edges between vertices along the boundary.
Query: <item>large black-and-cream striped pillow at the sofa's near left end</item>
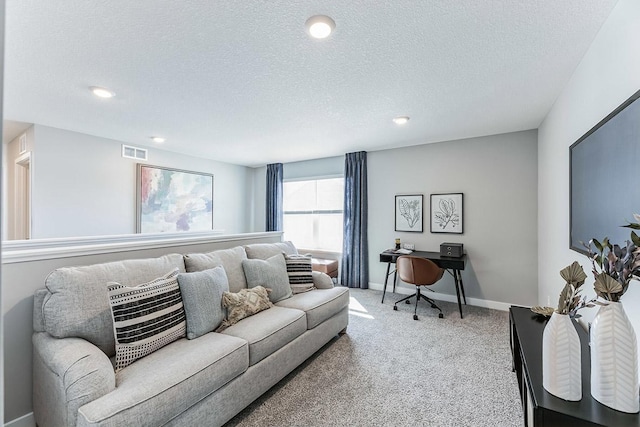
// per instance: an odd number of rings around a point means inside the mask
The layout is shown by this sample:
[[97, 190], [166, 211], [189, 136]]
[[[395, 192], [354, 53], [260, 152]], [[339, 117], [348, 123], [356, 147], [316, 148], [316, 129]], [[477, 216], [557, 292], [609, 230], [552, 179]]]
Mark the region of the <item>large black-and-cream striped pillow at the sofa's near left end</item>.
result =
[[178, 269], [138, 286], [109, 283], [116, 372], [185, 336]]

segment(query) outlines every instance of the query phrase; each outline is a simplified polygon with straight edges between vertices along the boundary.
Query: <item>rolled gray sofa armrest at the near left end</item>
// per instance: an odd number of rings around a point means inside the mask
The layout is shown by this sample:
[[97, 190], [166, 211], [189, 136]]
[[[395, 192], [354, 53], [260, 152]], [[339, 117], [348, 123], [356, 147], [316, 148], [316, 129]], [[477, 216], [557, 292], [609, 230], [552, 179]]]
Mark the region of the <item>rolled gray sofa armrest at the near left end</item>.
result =
[[81, 338], [33, 334], [33, 412], [40, 427], [76, 425], [78, 408], [115, 390], [111, 361]]

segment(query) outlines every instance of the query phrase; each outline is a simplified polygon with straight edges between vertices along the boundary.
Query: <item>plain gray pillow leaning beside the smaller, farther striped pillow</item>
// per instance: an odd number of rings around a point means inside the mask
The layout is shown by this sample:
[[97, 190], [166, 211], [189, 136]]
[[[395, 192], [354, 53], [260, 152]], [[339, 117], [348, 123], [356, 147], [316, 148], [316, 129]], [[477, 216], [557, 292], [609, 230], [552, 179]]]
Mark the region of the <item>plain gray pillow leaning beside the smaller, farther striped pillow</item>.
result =
[[269, 294], [271, 302], [291, 297], [287, 263], [283, 254], [274, 255], [266, 260], [243, 259], [242, 268], [249, 288], [262, 286], [271, 289]]

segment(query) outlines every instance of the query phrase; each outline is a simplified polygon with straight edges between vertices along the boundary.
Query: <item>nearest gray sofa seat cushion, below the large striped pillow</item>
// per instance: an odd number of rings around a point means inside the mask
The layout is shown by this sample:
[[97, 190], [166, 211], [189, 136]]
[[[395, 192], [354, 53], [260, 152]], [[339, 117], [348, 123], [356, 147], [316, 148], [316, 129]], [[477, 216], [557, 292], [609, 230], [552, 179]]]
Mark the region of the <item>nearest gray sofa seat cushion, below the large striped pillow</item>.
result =
[[78, 411], [78, 425], [165, 425], [246, 371], [245, 340], [211, 333], [181, 339], [116, 374], [116, 389]]

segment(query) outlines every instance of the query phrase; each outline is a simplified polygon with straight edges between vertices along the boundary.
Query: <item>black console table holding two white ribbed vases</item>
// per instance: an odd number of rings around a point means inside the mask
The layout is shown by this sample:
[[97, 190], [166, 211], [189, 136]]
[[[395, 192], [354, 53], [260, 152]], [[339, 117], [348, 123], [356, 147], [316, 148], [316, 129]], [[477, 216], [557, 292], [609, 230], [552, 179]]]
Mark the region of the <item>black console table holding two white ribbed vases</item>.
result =
[[576, 325], [582, 349], [582, 400], [568, 402], [542, 387], [542, 332], [547, 320], [524, 307], [509, 309], [513, 370], [526, 427], [640, 426], [638, 414], [615, 411], [591, 397], [589, 336]]

